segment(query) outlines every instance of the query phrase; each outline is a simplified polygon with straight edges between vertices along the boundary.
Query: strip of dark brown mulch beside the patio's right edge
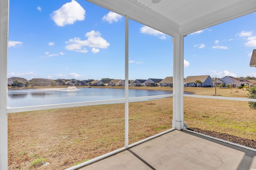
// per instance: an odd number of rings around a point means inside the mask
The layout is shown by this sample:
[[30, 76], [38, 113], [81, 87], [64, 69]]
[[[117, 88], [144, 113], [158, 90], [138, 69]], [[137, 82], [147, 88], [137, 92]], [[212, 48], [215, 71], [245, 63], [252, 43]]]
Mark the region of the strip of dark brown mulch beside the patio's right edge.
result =
[[207, 130], [203, 130], [203, 129], [198, 129], [195, 127], [190, 127], [190, 130], [198, 132], [198, 133], [202, 133], [204, 135], [209, 135], [211, 137], [216, 137], [219, 139], [223, 139], [226, 141], [230, 141], [233, 143], [237, 143], [246, 147], [250, 147], [253, 149], [256, 149], [256, 141], [252, 140], [252, 139], [245, 139], [242, 137], [237, 137], [234, 135], [229, 135], [227, 133], [220, 133], [220, 132], [215, 132], [215, 131], [207, 131]]

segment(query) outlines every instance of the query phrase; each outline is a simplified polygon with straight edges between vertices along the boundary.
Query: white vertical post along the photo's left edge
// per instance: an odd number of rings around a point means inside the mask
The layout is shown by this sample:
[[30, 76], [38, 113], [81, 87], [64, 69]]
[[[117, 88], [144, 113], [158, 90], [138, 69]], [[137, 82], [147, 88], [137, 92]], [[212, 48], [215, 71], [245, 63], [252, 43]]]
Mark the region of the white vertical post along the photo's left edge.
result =
[[9, 0], [0, 0], [0, 170], [8, 170], [7, 55]]

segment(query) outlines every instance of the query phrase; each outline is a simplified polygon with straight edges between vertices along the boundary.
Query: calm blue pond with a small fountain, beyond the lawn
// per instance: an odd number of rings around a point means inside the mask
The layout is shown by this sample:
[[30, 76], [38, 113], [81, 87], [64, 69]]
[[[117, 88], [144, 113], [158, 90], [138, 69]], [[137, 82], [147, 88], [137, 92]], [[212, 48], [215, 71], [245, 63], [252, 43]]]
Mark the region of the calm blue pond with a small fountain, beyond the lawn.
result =
[[[162, 90], [129, 90], [129, 98], [172, 94]], [[8, 89], [8, 107], [40, 106], [124, 98], [124, 89], [38, 88]]]

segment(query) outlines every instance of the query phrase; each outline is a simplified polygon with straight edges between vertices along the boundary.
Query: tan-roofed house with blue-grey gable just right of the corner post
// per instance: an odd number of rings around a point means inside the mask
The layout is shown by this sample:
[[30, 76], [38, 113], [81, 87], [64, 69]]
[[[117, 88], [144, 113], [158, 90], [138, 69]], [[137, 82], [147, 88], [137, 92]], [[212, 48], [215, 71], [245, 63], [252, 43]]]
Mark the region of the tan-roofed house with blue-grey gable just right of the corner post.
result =
[[213, 87], [213, 82], [209, 75], [206, 76], [187, 76], [184, 79], [184, 87], [196, 87], [196, 80], [200, 80], [201, 83], [198, 84], [198, 87]]

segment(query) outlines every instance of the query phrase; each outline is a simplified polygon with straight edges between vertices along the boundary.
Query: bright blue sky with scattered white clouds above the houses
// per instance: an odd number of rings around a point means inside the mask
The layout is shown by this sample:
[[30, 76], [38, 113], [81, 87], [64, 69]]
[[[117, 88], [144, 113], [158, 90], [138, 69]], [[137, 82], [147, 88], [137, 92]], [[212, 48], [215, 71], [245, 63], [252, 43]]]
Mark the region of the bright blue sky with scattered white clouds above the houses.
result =
[[[124, 79], [124, 17], [85, 0], [10, 0], [8, 77]], [[256, 13], [184, 37], [184, 78], [254, 76]], [[129, 79], [173, 76], [172, 37], [129, 20]]]

